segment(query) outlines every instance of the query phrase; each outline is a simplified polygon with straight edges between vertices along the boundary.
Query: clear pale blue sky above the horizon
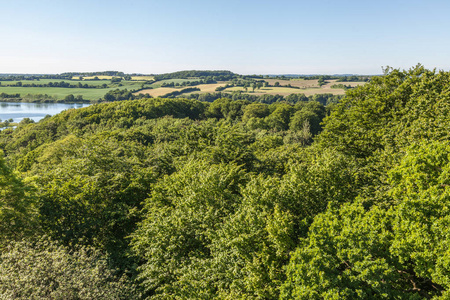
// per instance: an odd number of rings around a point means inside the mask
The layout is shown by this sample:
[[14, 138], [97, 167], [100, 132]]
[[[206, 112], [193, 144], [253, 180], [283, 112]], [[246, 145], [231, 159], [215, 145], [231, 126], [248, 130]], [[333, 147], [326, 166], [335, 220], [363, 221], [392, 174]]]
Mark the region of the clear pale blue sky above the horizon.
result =
[[450, 69], [450, 1], [2, 1], [0, 73]]

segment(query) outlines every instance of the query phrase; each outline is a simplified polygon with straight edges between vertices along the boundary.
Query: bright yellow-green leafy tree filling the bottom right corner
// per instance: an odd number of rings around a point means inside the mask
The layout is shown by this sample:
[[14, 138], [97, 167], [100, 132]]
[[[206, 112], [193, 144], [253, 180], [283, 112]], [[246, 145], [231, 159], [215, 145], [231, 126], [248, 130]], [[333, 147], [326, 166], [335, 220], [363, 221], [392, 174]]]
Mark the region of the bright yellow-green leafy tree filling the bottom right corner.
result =
[[389, 171], [384, 201], [316, 217], [291, 258], [283, 299], [447, 299], [450, 147], [423, 141]]

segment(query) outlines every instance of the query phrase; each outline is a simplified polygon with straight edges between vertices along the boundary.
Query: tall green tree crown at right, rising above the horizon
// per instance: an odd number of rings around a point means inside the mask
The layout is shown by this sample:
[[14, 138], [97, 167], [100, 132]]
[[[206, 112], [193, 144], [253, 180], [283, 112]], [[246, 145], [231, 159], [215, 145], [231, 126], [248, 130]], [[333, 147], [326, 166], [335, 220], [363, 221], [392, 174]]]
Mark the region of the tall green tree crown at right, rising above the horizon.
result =
[[366, 158], [384, 149], [397, 149], [420, 139], [448, 136], [450, 73], [418, 65], [391, 70], [346, 97], [324, 120], [324, 147], [333, 146]]

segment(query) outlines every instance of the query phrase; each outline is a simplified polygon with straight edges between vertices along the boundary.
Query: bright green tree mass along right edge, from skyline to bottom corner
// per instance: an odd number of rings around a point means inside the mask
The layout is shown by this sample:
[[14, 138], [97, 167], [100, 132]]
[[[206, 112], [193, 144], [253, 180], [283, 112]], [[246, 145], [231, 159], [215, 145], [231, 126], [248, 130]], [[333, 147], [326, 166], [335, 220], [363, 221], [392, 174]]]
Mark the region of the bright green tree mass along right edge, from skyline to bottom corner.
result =
[[322, 147], [373, 177], [341, 208], [318, 215], [287, 268], [284, 299], [448, 297], [450, 74], [391, 70], [347, 93]]

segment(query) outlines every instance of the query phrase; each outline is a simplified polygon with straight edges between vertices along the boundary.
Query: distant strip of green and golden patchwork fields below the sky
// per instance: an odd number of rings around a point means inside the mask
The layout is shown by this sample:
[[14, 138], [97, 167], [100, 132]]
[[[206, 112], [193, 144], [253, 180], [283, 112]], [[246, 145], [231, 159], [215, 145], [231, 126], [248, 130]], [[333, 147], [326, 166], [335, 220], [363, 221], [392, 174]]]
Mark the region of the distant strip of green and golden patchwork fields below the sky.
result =
[[[344, 95], [346, 89], [365, 81], [342, 81], [341, 77], [286, 78], [244, 76], [224, 71], [181, 71], [162, 75], [72, 74], [52, 76], [0, 76], [0, 101], [84, 100], [91, 102], [142, 97], [200, 97], [202, 94], [286, 97]], [[108, 72], [107, 72], [108, 73]], [[316, 76], [317, 77], [317, 76]], [[364, 79], [364, 78], [361, 78]], [[221, 94], [221, 95], [222, 95]], [[109, 96], [108, 96], [109, 95]], [[247, 96], [246, 96], [247, 95]], [[236, 97], [236, 96], [234, 96]]]

